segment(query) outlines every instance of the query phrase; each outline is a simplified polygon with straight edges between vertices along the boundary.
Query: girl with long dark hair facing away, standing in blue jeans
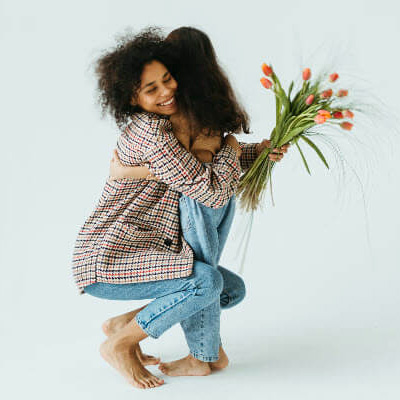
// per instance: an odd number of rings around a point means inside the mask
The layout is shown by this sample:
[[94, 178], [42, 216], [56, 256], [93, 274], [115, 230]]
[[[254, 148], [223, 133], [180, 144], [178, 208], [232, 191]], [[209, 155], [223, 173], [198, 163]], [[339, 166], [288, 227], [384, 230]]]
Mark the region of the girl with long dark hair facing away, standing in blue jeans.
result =
[[[166, 41], [171, 48], [171, 73], [183, 88], [177, 92], [179, 115], [172, 118], [175, 137], [188, 151], [194, 154], [205, 165], [211, 165], [213, 156], [221, 147], [224, 132], [249, 132], [248, 117], [236, 100], [234, 91], [225, 73], [218, 65], [214, 48], [209, 37], [202, 31], [182, 27], [172, 31]], [[262, 151], [263, 145], [257, 144], [257, 154]], [[253, 149], [254, 145], [245, 145]], [[283, 151], [287, 150], [287, 146]], [[248, 157], [249, 158], [249, 157]], [[271, 154], [275, 161], [282, 155]], [[249, 161], [254, 159], [251, 157]], [[243, 169], [247, 167], [245, 157], [241, 157]], [[111, 164], [110, 176], [114, 178], [155, 178], [146, 167], [123, 166], [118, 155], [115, 154]], [[231, 197], [224, 207], [213, 209], [205, 206], [196, 199], [181, 193], [179, 199], [179, 212], [182, 232], [185, 240], [194, 251], [196, 260], [213, 265], [222, 274], [224, 288], [220, 301], [201, 310], [188, 321], [181, 322], [201, 326], [199, 321], [204, 320], [204, 315], [219, 313], [219, 309], [227, 309], [240, 303], [245, 296], [243, 280], [218, 265], [224, 248], [235, 212], [235, 195]], [[129, 314], [129, 313], [128, 313]], [[132, 314], [130, 315], [132, 318]], [[204, 330], [204, 332], [203, 332]], [[207, 327], [197, 329], [197, 337], [187, 336], [189, 349], [193, 349], [194, 339], [202, 337], [209, 343], [217, 343], [216, 329]], [[218, 338], [219, 359], [217, 362], [198, 362], [196, 355], [191, 353], [183, 359], [161, 363], [159, 369], [167, 375], [194, 375], [208, 374], [211, 370], [225, 368], [228, 357], [223, 350], [221, 339]], [[214, 349], [214, 354], [215, 354]], [[204, 361], [204, 359], [203, 359]]]

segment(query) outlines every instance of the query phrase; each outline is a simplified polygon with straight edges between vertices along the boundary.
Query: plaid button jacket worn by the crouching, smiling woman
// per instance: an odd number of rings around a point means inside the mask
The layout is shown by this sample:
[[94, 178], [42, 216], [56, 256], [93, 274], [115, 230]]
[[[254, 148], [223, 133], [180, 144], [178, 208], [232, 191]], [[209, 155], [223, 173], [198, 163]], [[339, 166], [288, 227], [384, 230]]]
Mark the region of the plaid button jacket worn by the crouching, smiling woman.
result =
[[209, 207], [223, 207], [236, 190], [241, 168], [255, 160], [255, 144], [241, 147], [240, 160], [223, 145], [213, 165], [203, 165], [179, 144], [168, 119], [135, 114], [118, 139], [118, 155], [125, 165], [146, 165], [160, 181], [106, 181], [75, 242], [72, 267], [79, 293], [95, 282], [189, 276], [193, 252], [180, 230], [180, 192]]

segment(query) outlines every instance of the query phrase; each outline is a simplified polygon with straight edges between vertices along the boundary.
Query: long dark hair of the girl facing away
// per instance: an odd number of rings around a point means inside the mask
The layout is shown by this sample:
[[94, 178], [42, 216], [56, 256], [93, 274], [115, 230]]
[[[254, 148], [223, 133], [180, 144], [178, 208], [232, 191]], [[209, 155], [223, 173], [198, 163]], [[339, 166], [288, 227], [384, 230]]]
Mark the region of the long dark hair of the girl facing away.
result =
[[192, 129], [249, 133], [249, 117], [218, 64], [209, 37], [192, 27], [173, 30], [166, 39], [170, 72], [178, 82], [179, 111]]

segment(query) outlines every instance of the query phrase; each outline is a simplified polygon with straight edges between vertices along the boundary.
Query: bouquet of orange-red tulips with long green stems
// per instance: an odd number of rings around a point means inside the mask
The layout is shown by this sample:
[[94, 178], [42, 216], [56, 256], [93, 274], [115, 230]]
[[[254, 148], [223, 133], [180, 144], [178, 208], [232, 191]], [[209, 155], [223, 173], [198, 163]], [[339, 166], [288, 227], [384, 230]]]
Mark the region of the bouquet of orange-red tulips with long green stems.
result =
[[266, 76], [260, 79], [261, 84], [275, 94], [276, 126], [270, 136], [270, 146], [262, 151], [239, 182], [238, 194], [241, 206], [247, 211], [255, 210], [259, 206], [268, 184], [272, 194], [271, 174], [275, 162], [269, 159], [268, 154], [274, 148], [288, 143], [294, 144], [300, 152], [305, 168], [310, 173], [299, 145], [299, 142], [303, 141], [317, 153], [325, 166], [329, 168], [321, 150], [310, 139], [311, 128], [321, 124], [330, 124], [350, 131], [353, 124], [349, 120], [354, 117], [353, 112], [345, 107], [343, 102], [343, 98], [348, 95], [348, 90], [340, 89], [336, 93], [331, 88], [322, 90], [322, 86], [325, 86], [324, 80], [332, 84], [339, 78], [337, 73], [332, 73], [326, 78], [318, 77], [312, 82], [310, 80], [311, 70], [305, 68], [301, 89], [297, 93], [292, 93], [294, 86], [294, 81], [292, 81], [286, 93], [272, 67], [264, 63], [261, 68]]

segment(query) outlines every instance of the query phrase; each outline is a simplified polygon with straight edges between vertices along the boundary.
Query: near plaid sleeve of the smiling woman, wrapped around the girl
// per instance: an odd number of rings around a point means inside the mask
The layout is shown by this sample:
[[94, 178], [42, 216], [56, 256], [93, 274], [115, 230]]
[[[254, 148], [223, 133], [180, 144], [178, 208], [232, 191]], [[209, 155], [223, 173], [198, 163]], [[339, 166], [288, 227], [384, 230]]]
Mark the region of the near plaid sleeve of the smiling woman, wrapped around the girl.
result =
[[223, 207], [235, 193], [241, 167], [236, 151], [224, 144], [211, 165], [186, 151], [172, 133], [168, 120], [131, 124], [121, 135], [121, 161], [132, 165], [132, 152], [141, 153], [151, 173], [170, 188], [211, 208]]

